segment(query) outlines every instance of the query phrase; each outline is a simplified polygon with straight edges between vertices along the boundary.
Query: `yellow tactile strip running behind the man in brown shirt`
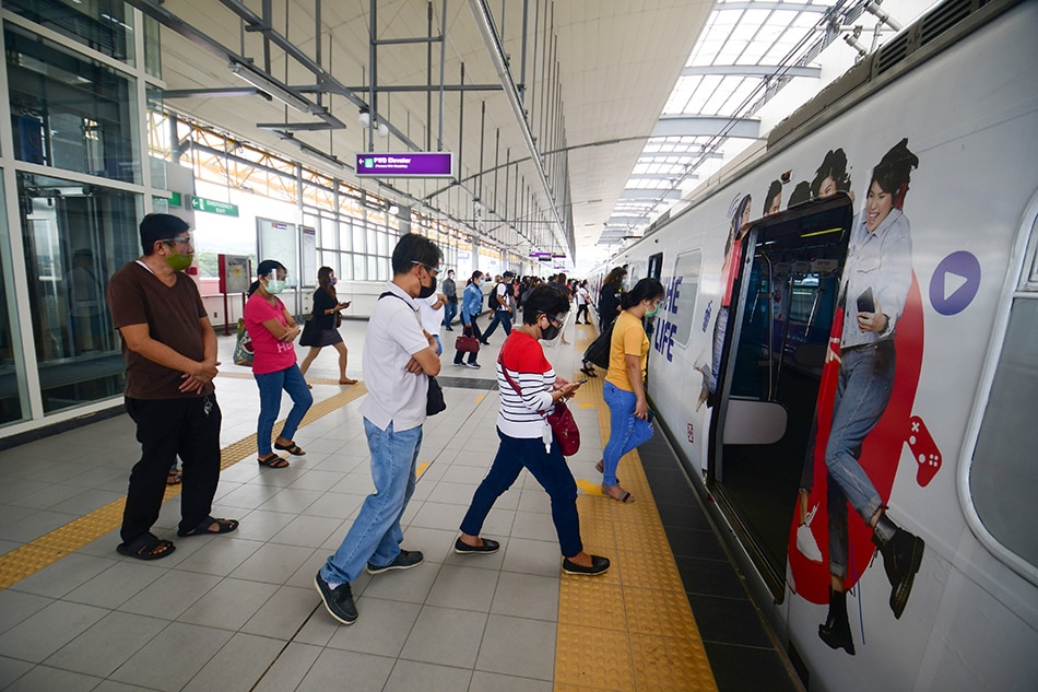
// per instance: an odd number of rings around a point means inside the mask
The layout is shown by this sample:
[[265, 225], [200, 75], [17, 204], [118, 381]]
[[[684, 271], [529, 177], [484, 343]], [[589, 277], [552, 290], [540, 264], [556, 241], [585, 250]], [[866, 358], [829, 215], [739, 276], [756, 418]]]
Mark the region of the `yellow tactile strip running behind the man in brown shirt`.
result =
[[[248, 377], [245, 373], [221, 373], [220, 377]], [[334, 379], [314, 379], [312, 383], [334, 384]], [[326, 415], [341, 406], [350, 403], [367, 394], [363, 383], [350, 386], [337, 395], [317, 402], [310, 407], [303, 418], [302, 425], [311, 423]], [[284, 421], [279, 421], [274, 427], [283, 425]], [[258, 451], [256, 446], [256, 435], [249, 435], [238, 442], [232, 443], [220, 450], [220, 468], [226, 469], [234, 466], [241, 459], [245, 459]], [[176, 497], [180, 494], [180, 485], [166, 486], [166, 494], [163, 501]], [[105, 533], [119, 528], [122, 524], [122, 508], [126, 505], [126, 497], [120, 497], [108, 503], [104, 507], [95, 509], [90, 514], [70, 521], [64, 526], [46, 533], [32, 543], [26, 543], [11, 552], [0, 556], [0, 590], [21, 582], [25, 577], [35, 574], [47, 565], [57, 562], [69, 553], [75, 552], [86, 543], [97, 540]]]

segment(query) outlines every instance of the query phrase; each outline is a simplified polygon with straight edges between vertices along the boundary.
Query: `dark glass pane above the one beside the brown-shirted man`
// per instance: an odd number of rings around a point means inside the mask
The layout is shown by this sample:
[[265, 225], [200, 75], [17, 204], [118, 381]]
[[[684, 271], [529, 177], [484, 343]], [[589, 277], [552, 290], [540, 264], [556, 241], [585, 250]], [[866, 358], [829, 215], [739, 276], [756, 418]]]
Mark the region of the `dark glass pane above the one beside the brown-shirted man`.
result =
[[140, 183], [131, 81], [16, 25], [3, 34], [15, 157]]

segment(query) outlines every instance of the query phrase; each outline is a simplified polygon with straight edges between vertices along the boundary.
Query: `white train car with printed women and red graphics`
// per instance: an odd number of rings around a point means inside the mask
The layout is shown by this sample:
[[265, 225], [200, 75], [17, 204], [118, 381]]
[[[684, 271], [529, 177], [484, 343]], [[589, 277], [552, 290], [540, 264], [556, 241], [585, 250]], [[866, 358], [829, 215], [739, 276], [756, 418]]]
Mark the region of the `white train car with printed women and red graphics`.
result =
[[668, 289], [652, 407], [809, 690], [1038, 690], [1036, 35], [936, 7], [605, 268]]

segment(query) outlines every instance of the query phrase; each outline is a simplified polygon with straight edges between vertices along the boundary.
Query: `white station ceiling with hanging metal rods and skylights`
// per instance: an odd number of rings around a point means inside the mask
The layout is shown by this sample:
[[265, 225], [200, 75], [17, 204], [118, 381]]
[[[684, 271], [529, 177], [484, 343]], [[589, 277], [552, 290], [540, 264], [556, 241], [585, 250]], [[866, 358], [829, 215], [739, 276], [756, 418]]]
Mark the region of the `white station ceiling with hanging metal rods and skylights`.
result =
[[[564, 251], [570, 261], [577, 248], [637, 235], [679, 199], [695, 166], [719, 157], [711, 128], [760, 136], [752, 118], [739, 117], [746, 96], [775, 78], [780, 59], [831, 5], [849, 4], [129, 3], [163, 25], [172, 112], [295, 159], [302, 153], [307, 165], [373, 191], [378, 183], [353, 172], [356, 153], [452, 151], [459, 184], [394, 178], [378, 193], [446, 213], [500, 247]], [[232, 63], [243, 66], [237, 74]], [[272, 78], [264, 91], [275, 97], [250, 86], [256, 72]], [[279, 97], [282, 86], [291, 93]], [[375, 129], [361, 124], [363, 110], [374, 110]], [[379, 136], [381, 124], [388, 137]]]

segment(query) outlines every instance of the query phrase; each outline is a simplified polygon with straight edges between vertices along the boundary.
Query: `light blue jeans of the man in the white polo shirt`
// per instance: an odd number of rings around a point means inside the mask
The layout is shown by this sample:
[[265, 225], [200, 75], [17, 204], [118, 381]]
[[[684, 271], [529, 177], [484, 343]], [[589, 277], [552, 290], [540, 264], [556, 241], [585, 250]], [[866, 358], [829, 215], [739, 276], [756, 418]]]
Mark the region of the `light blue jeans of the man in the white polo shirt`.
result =
[[353, 582], [365, 564], [384, 567], [397, 559], [403, 541], [400, 517], [414, 493], [422, 426], [398, 432], [390, 423], [386, 430], [379, 430], [364, 419], [364, 434], [371, 451], [375, 492], [364, 499], [339, 550], [321, 567], [321, 578], [330, 584]]

